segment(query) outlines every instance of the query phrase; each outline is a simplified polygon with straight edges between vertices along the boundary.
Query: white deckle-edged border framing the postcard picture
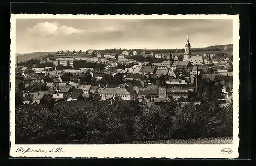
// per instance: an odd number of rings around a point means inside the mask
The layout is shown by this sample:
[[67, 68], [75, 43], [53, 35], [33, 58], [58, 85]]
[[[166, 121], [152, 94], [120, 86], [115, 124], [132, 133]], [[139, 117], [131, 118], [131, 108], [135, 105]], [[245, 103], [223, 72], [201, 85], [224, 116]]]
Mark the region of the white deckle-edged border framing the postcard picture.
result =
[[[233, 19], [233, 144], [228, 145], [16, 145], [15, 144], [15, 34], [16, 19]], [[52, 15], [11, 14], [10, 56], [10, 141], [12, 157], [97, 157], [97, 158], [237, 158], [239, 156], [239, 15]], [[17, 148], [51, 150], [62, 148], [64, 153], [16, 153]], [[231, 148], [231, 154], [221, 149]]]

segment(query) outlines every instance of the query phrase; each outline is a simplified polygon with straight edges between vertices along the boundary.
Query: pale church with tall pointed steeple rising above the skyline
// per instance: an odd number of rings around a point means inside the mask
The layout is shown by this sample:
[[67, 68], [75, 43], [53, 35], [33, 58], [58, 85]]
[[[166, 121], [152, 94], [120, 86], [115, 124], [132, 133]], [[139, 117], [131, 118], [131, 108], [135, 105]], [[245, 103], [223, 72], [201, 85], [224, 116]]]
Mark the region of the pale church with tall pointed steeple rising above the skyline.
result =
[[187, 42], [185, 45], [185, 53], [183, 55], [183, 61], [190, 61], [193, 66], [200, 66], [204, 64], [203, 57], [202, 56], [193, 56], [191, 51], [191, 44], [189, 42], [189, 36], [187, 34]]

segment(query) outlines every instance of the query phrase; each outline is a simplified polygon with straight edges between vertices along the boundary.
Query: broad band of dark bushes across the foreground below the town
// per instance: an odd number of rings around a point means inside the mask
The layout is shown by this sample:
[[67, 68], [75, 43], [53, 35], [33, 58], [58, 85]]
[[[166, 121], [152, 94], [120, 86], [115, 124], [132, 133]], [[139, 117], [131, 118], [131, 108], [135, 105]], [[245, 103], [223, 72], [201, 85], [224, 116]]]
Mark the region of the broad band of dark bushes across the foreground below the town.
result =
[[[67, 102], [68, 103], [68, 102]], [[91, 102], [86, 108], [59, 104], [51, 110], [29, 104], [16, 108], [16, 144], [114, 144], [139, 140], [232, 136], [232, 104], [137, 101]]]

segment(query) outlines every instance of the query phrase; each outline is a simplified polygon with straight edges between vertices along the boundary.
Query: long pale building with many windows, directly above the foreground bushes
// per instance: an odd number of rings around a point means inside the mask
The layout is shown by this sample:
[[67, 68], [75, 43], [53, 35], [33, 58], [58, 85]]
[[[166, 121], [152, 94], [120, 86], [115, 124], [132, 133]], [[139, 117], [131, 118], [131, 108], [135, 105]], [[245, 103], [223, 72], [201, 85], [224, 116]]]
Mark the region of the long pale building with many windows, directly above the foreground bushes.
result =
[[120, 96], [123, 100], [134, 100], [135, 91], [131, 88], [100, 88], [101, 100], [108, 100]]

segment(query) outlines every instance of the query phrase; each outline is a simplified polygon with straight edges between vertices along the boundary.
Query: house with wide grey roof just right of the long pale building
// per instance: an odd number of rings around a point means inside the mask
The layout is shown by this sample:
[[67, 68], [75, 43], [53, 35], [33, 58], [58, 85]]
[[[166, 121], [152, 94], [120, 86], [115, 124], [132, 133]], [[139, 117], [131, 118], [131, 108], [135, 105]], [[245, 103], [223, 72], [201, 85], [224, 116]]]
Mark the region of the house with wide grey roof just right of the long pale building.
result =
[[155, 98], [158, 98], [158, 86], [157, 88], [139, 88], [138, 92], [139, 101], [152, 102]]

